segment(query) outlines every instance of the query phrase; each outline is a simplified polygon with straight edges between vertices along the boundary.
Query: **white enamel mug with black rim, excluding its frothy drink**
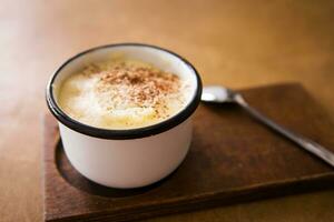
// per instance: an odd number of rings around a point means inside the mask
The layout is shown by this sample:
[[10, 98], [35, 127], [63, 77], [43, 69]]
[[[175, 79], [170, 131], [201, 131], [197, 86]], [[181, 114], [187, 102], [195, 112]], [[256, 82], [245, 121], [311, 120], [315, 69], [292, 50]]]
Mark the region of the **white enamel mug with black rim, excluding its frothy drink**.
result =
[[[67, 115], [57, 104], [62, 81], [86, 64], [114, 54], [151, 63], [189, 80], [190, 100], [177, 114], [157, 124], [129, 130], [87, 125]], [[87, 179], [110, 188], [149, 185], [170, 174], [185, 159], [191, 141], [191, 115], [202, 93], [200, 78], [185, 59], [148, 44], [109, 44], [84, 51], [66, 61], [47, 85], [47, 103], [57, 118], [62, 145], [72, 167]]]

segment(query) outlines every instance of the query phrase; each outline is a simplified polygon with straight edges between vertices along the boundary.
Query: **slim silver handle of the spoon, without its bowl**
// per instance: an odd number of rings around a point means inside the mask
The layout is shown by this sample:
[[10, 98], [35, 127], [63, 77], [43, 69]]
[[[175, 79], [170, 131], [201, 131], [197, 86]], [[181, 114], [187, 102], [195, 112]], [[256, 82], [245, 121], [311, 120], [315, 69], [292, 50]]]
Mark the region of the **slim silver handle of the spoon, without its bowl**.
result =
[[322, 159], [330, 165], [334, 167], [334, 153], [331, 152], [330, 150], [325, 149], [321, 144], [303, 137], [297, 133], [294, 133], [282, 125], [275, 123], [273, 120], [268, 119], [254, 108], [252, 108], [244, 99], [242, 95], [236, 95], [235, 101], [243, 107], [252, 117], [255, 119], [259, 120], [262, 123], [267, 125], [268, 128], [273, 129], [274, 131], [281, 133], [282, 135], [286, 137], [294, 143], [298, 144], [301, 148], [304, 148], [306, 151], [313, 153], [317, 158]]

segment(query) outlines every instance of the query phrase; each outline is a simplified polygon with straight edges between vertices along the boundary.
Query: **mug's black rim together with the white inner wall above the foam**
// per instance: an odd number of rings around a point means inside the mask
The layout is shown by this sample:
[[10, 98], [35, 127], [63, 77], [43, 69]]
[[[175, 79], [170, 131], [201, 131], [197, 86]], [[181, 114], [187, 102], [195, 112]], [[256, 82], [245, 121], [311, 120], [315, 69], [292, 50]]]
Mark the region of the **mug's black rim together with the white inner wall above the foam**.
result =
[[[190, 87], [187, 89], [188, 102], [177, 113], [161, 122], [148, 127], [126, 130], [112, 130], [91, 127], [79, 122], [66, 114], [60, 109], [57, 102], [58, 91], [61, 88], [63, 80], [69, 78], [69, 75], [81, 71], [88, 64], [110, 61], [111, 59], [115, 59], [115, 57], [120, 57], [121, 59], [138, 60], [149, 63], [164, 71], [177, 74], [181, 80], [186, 80], [190, 84]], [[109, 44], [84, 51], [67, 60], [55, 72], [53, 77], [50, 79], [47, 85], [48, 108], [59, 122], [77, 132], [90, 137], [114, 140], [150, 137], [178, 125], [194, 113], [199, 104], [200, 94], [200, 78], [195, 68], [187, 60], [169, 50], [140, 43]]]

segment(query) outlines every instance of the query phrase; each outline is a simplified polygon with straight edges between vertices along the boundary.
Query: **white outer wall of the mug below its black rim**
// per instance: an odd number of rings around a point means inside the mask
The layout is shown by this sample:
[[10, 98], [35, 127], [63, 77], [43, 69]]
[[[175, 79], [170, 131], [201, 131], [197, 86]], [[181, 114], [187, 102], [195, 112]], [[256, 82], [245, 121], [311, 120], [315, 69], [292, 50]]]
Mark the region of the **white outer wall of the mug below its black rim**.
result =
[[166, 132], [132, 140], [106, 140], [59, 123], [65, 152], [86, 178], [111, 188], [138, 188], [171, 173], [185, 159], [191, 121]]

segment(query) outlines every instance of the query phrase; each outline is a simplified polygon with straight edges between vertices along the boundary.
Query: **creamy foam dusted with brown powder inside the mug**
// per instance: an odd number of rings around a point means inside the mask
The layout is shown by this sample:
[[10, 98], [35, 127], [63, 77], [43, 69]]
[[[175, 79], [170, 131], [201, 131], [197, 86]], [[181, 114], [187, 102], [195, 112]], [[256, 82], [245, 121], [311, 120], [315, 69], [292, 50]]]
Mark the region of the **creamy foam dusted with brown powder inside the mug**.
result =
[[161, 122], [189, 101], [191, 84], [140, 61], [95, 63], [67, 78], [59, 107], [71, 118], [104, 129], [135, 129]]

